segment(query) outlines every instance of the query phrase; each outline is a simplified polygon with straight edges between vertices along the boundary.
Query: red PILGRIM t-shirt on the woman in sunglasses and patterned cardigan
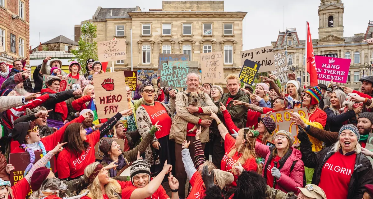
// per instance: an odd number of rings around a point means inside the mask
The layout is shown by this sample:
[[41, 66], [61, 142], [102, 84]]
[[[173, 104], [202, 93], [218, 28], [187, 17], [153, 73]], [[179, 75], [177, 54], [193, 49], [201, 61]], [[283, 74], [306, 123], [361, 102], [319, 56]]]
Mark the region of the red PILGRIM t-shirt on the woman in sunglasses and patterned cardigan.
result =
[[146, 112], [149, 114], [151, 123], [155, 125], [158, 122], [158, 125], [162, 126], [160, 131], [156, 132], [156, 138], [163, 138], [166, 135], [170, 135], [172, 120], [168, 115], [166, 108], [158, 102], [154, 102], [154, 106], [141, 105], [145, 108]]

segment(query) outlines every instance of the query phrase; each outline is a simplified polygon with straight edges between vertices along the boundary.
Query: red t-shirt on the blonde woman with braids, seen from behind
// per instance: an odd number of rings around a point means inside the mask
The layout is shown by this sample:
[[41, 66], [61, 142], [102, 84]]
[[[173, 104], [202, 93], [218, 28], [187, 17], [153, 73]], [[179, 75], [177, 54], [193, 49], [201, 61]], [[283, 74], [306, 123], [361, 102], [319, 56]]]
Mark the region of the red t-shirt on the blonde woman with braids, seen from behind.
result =
[[[238, 176], [234, 174], [234, 169], [233, 167], [235, 166], [237, 160], [242, 156], [242, 154], [238, 154], [236, 152], [231, 158], [228, 157], [229, 152], [233, 147], [235, 147], [236, 140], [232, 138], [229, 133], [225, 135], [225, 140], [224, 140], [224, 149], [225, 149], [225, 154], [223, 156], [222, 162], [220, 163], [220, 169], [223, 171], [228, 171], [233, 174], [234, 180], [233, 183], [231, 184], [232, 186], [237, 186], [237, 179]], [[258, 165], [256, 163], [255, 157], [250, 156], [245, 162], [245, 164], [242, 164], [242, 167], [246, 171], [257, 171]]]

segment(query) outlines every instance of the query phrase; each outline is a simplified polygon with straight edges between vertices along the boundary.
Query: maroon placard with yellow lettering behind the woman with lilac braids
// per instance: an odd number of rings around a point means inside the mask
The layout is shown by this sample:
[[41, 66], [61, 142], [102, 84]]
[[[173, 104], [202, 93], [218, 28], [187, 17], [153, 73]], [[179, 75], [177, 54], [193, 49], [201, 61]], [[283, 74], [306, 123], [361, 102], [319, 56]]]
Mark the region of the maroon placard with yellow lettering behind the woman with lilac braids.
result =
[[[47, 151], [47, 153], [48, 152], [49, 151]], [[35, 151], [34, 164], [42, 157], [43, 157], [43, 152]], [[9, 164], [12, 164], [15, 167], [15, 170], [10, 172], [10, 184], [11, 186], [13, 186], [19, 180], [23, 179], [23, 174], [25, 172], [25, 169], [27, 168], [28, 164], [30, 164], [30, 154], [28, 152], [11, 153], [9, 154]], [[50, 168], [54, 173], [54, 157], [50, 159]]]

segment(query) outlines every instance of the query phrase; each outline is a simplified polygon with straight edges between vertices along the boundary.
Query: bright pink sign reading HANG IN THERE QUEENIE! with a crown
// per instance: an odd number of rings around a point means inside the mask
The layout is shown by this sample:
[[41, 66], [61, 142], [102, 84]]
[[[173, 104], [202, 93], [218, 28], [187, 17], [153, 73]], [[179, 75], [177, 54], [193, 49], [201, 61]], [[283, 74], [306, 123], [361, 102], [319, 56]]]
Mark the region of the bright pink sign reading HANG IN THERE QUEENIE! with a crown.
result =
[[315, 56], [316, 72], [318, 80], [333, 80], [334, 82], [346, 83], [348, 70], [350, 70], [350, 59]]

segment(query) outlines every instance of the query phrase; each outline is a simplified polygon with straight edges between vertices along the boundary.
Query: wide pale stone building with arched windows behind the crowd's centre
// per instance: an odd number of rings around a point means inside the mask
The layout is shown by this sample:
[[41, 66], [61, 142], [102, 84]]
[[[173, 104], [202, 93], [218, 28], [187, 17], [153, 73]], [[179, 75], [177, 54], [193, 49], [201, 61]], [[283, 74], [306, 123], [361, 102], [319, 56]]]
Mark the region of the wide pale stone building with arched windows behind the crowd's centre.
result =
[[[93, 19], [97, 41], [125, 38], [127, 59], [115, 62], [115, 70], [157, 70], [159, 53], [200, 54], [223, 51], [225, 75], [241, 70], [242, 20], [245, 12], [227, 12], [224, 1], [162, 1], [162, 9], [144, 12], [135, 8], [98, 7]], [[81, 22], [81, 24], [85, 23]], [[75, 25], [75, 40], [80, 37]], [[130, 41], [132, 29], [132, 44]], [[109, 62], [108, 67], [111, 66]]]

